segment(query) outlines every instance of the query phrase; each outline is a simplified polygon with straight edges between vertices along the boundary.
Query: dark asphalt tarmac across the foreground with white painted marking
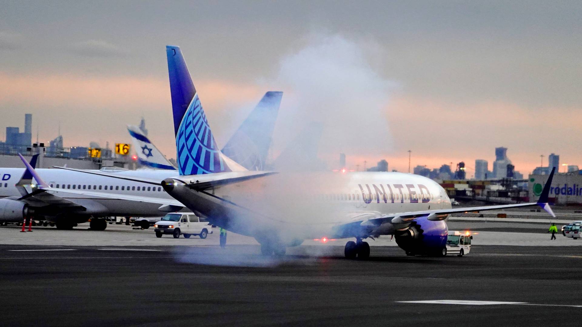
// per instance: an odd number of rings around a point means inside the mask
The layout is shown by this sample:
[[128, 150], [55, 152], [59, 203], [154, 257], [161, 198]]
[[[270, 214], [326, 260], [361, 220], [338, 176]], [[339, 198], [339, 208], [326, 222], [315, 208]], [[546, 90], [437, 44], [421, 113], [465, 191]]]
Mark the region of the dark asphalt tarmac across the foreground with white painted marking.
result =
[[254, 245], [2, 245], [2, 325], [547, 326], [582, 312], [577, 247], [372, 247], [368, 261], [313, 248], [276, 259]]

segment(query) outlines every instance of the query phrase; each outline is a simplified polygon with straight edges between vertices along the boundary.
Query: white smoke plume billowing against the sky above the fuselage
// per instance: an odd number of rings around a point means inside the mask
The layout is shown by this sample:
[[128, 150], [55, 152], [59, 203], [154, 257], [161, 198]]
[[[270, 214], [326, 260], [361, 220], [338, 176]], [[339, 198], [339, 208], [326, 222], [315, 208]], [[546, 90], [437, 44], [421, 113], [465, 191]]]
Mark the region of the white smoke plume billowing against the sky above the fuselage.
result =
[[[374, 45], [342, 35], [314, 35], [306, 47], [282, 58], [269, 88], [285, 91], [274, 145], [282, 151], [310, 122], [324, 124], [320, 156], [372, 155], [392, 145], [384, 112], [394, 81], [376, 72], [367, 55]], [[333, 161], [330, 168], [333, 168]]]

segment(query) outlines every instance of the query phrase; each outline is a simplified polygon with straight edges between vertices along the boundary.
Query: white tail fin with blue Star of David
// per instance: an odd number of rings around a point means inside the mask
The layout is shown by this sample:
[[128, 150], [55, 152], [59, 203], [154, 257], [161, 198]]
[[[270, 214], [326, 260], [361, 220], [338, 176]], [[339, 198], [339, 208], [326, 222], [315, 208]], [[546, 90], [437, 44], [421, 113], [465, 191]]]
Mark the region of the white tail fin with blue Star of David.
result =
[[132, 137], [137, 160], [141, 165], [155, 169], [176, 170], [176, 167], [151, 143], [150, 139], [144, 135], [139, 127], [127, 125], [127, 131], [129, 131], [129, 135]]

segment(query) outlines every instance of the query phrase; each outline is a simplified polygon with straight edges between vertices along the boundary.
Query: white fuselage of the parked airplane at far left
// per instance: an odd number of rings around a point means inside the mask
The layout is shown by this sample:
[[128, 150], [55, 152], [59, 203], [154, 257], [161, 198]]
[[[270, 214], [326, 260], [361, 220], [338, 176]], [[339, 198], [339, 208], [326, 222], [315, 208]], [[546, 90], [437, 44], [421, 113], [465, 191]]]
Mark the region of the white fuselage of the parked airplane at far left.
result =
[[[128, 180], [115, 179], [106, 176], [90, 175], [87, 173], [74, 172], [63, 169], [36, 169], [38, 175], [49, 186], [64, 190], [88, 190], [94, 193], [109, 194], [127, 194], [132, 196], [159, 197], [171, 199], [161, 187], [152, 186], [151, 184], [132, 182]], [[0, 168], [0, 198], [20, 197], [19, 191], [15, 184], [20, 180], [24, 173], [24, 168]], [[175, 170], [124, 170], [116, 172], [123, 176], [139, 176], [150, 179], [163, 180], [166, 177], [177, 176]], [[36, 183], [36, 182], [34, 182]], [[27, 187], [29, 192], [31, 189]], [[70, 194], [66, 192], [55, 192], [55, 196], [65, 198], [66, 200], [79, 203], [93, 208], [86, 214], [94, 216], [164, 216], [166, 212], [159, 211], [159, 204], [118, 200], [114, 198], [101, 198], [95, 196], [85, 196], [83, 194]], [[80, 212], [83, 214], [83, 212]]]

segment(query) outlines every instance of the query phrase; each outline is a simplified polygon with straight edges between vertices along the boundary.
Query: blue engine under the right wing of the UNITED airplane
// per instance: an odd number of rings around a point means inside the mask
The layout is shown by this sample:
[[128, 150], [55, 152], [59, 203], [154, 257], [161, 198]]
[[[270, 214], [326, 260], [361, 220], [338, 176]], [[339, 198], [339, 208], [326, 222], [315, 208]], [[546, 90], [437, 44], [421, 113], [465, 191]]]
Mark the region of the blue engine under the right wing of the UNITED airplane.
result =
[[395, 234], [396, 244], [407, 253], [439, 254], [446, 246], [449, 228], [444, 221], [429, 221], [427, 217], [414, 219], [410, 228]]

